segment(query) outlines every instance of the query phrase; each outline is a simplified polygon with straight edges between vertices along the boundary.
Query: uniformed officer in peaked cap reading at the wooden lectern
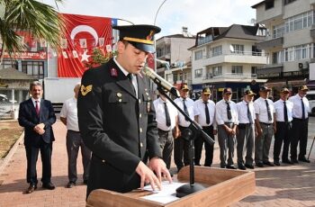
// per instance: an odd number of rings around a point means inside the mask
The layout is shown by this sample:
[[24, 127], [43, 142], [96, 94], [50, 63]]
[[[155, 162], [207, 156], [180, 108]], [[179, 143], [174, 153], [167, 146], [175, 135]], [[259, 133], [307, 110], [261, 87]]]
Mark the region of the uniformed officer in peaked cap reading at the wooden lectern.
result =
[[153, 35], [160, 28], [114, 29], [120, 31], [117, 56], [85, 71], [77, 100], [79, 130], [93, 152], [87, 196], [100, 188], [125, 193], [151, 184], [160, 189], [162, 176], [171, 182], [161, 159], [148, 78], [140, 73], [148, 52], [154, 51]]

